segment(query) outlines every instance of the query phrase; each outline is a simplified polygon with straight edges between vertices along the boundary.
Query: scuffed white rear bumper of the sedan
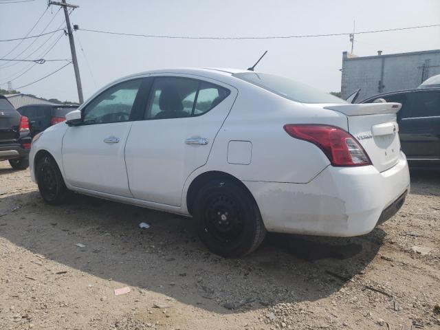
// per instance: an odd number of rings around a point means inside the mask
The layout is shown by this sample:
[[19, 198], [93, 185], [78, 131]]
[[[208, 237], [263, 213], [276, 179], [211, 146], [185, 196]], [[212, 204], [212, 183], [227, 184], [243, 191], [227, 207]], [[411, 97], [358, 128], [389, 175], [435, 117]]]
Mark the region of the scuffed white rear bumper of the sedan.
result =
[[410, 188], [405, 155], [380, 173], [373, 166], [327, 166], [308, 184], [244, 181], [267, 230], [357, 236], [393, 216]]

